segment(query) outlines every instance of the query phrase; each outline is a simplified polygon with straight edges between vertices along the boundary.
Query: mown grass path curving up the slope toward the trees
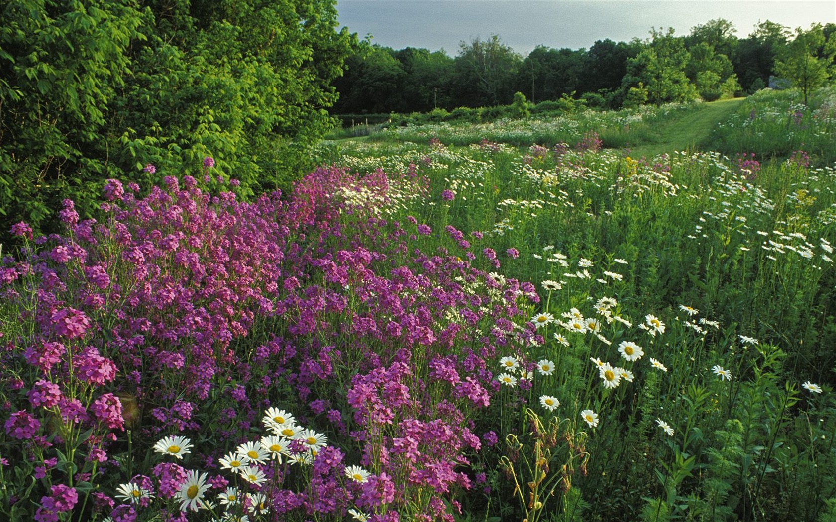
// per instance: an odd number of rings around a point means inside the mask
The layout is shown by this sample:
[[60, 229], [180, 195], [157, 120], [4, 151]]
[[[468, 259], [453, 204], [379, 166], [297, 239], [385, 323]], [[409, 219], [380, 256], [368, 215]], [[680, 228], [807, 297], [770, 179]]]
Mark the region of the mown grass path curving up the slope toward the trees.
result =
[[743, 98], [734, 98], [701, 104], [700, 110], [679, 119], [672, 119], [655, 128], [654, 134], [658, 136], [658, 141], [633, 147], [631, 155], [650, 157], [674, 150], [699, 149], [707, 144], [711, 137], [711, 129], [742, 103]]

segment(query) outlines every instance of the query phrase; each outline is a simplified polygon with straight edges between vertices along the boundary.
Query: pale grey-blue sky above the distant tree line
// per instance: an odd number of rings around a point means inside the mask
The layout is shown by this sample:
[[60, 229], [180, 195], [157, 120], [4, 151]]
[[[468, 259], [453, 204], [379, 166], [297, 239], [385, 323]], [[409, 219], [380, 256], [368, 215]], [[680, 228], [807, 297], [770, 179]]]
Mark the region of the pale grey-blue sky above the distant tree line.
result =
[[596, 40], [645, 39], [650, 28], [676, 35], [716, 18], [731, 21], [737, 38], [758, 22], [788, 28], [836, 23], [836, 0], [338, 0], [340, 27], [384, 47], [444, 49], [497, 34], [527, 56], [533, 48], [589, 48]]

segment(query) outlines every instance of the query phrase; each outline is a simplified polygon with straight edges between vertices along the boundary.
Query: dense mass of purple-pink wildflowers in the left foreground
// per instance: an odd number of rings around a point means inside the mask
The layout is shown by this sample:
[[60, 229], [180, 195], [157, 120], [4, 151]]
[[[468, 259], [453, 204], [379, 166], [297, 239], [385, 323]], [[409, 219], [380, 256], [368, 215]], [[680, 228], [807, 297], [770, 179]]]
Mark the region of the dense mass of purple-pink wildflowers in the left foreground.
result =
[[[390, 222], [334, 197], [354, 190], [385, 202], [393, 184], [429, 194], [413, 168], [358, 177], [330, 167], [286, 199], [277, 192], [242, 203], [186, 176], [166, 177], [141, 198], [136, 185], [109, 180], [101, 222], [79, 220], [65, 201], [63, 236], [38, 238], [22, 260], [0, 265], [0, 295], [27, 325], [0, 357], [0, 383], [15, 391], [0, 409], [19, 450], [13, 464], [53, 451], [56, 433], [79, 449], [67, 484], [113, 476], [110, 457], [126, 427], [140, 449], [161, 432], [216, 432], [219, 447], [190, 455], [213, 463], [223, 441], [247, 438], [280, 395], [332, 444], [301, 488], [260, 466], [274, 511], [342, 516], [356, 506], [372, 519], [452, 520], [447, 506], [471, 487], [463, 469], [482, 446], [477, 420], [498, 392], [497, 358], [542, 342], [523, 312], [538, 296], [529, 283], [472, 266], [474, 247], [454, 227], [445, 232], [457, 251], [425, 252], [429, 226]], [[479, 248], [480, 262], [500, 266], [495, 251]], [[527, 326], [514, 327], [515, 317]], [[344, 469], [356, 463], [370, 477], [345, 484]], [[79, 493], [63, 471], [42, 468], [54, 485], [37, 517], [55, 519]], [[132, 480], [156, 498], [174, 497], [186, 481], [179, 463], [145, 474]], [[96, 495], [94, 509], [114, 519], [135, 519], [144, 507]]]

